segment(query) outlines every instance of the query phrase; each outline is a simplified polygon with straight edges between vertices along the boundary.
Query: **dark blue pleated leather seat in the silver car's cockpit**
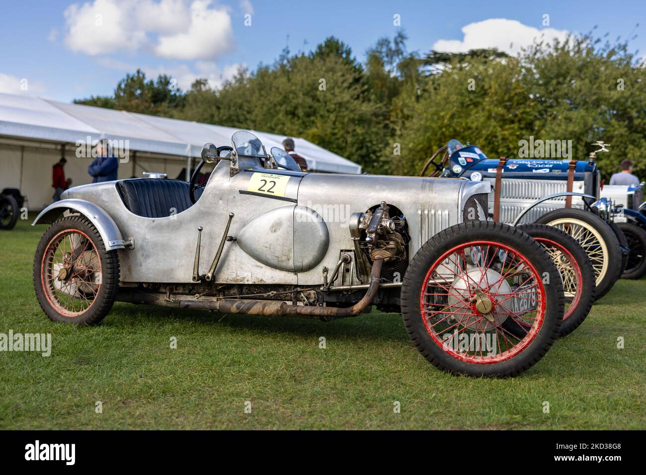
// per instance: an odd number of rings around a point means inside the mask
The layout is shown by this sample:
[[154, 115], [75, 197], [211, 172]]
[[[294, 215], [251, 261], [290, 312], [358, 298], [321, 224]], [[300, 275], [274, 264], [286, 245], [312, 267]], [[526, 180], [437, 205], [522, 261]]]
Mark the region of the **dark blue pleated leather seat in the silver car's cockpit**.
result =
[[116, 185], [125, 207], [139, 216], [167, 217], [193, 204], [189, 199], [189, 184], [182, 180], [130, 178]]

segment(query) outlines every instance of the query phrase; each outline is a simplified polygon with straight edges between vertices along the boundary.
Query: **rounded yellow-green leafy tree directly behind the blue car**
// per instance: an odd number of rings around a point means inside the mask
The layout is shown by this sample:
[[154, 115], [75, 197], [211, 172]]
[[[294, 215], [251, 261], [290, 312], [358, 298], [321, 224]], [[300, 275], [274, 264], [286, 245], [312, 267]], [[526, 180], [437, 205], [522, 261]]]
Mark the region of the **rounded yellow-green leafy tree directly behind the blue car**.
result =
[[435, 150], [452, 138], [477, 144], [491, 156], [513, 156], [519, 137], [532, 130], [536, 111], [518, 79], [516, 60], [445, 65], [426, 79], [412, 112], [399, 125], [395, 143], [401, 155], [391, 159], [392, 171], [417, 175]]

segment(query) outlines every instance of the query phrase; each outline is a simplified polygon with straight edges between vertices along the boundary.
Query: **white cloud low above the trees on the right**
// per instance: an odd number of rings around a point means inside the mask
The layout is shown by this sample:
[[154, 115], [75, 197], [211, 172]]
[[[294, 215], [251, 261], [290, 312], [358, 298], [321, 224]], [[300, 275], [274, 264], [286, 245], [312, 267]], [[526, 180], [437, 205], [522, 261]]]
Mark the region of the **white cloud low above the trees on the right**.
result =
[[519, 21], [505, 18], [492, 18], [477, 21], [463, 26], [462, 40], [441, 39], [433, 43], [435, 51], [448, 53], [462, 53], [477, 48], [497, 48], [507, 54], [516, 56], [521, 48], [532, 45], [534, 40], [541, 37], [546, 41], [559, 39], [563, 41], [568, 34], [567, 30], [543, 28], [539, 30], [533, 26], [523, 25]]

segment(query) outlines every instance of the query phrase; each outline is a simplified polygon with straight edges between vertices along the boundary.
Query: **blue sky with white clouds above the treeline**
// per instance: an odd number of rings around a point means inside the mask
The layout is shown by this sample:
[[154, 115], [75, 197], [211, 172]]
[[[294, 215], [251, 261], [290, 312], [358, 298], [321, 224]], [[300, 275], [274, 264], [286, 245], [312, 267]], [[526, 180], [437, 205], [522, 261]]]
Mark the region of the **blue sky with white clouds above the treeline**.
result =
[[[254, 69], [286, 45], [307, 51], [329, 35], [362, 60], [377, 39], [400, 28], [408, 49], [422, 53], [433, 46], [506, 48], [511, 41], [514, 52], [537, 34], [561, 37], [595, 25], [613, 39], [637, 34], [631, 49], [646, 51], [643, 0], [0, 0], [0, 8], [0, 92], [64, 102], [111, 94], [137, 67], [176, 77], [180, 87], [195, 77], [217, 86], [238, 65]], [[401, 26], [393, 25], [393, 15]]]

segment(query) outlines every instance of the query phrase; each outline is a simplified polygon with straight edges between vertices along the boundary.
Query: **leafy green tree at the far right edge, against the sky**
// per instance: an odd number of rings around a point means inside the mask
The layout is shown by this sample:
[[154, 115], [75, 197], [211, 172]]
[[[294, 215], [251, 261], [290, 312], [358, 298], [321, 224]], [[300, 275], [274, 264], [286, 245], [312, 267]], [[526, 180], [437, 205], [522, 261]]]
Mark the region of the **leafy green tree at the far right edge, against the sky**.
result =
[[534, 136], [572, 140], [573, 156], [585, 159], [592, 143], [610, 143], [599, 153], [604, 177], [630, 158], [646, 177], [646, 70], [626, 41], [592, 35], [538, 43], [523, 54], [521, 80], [539, 111]]

